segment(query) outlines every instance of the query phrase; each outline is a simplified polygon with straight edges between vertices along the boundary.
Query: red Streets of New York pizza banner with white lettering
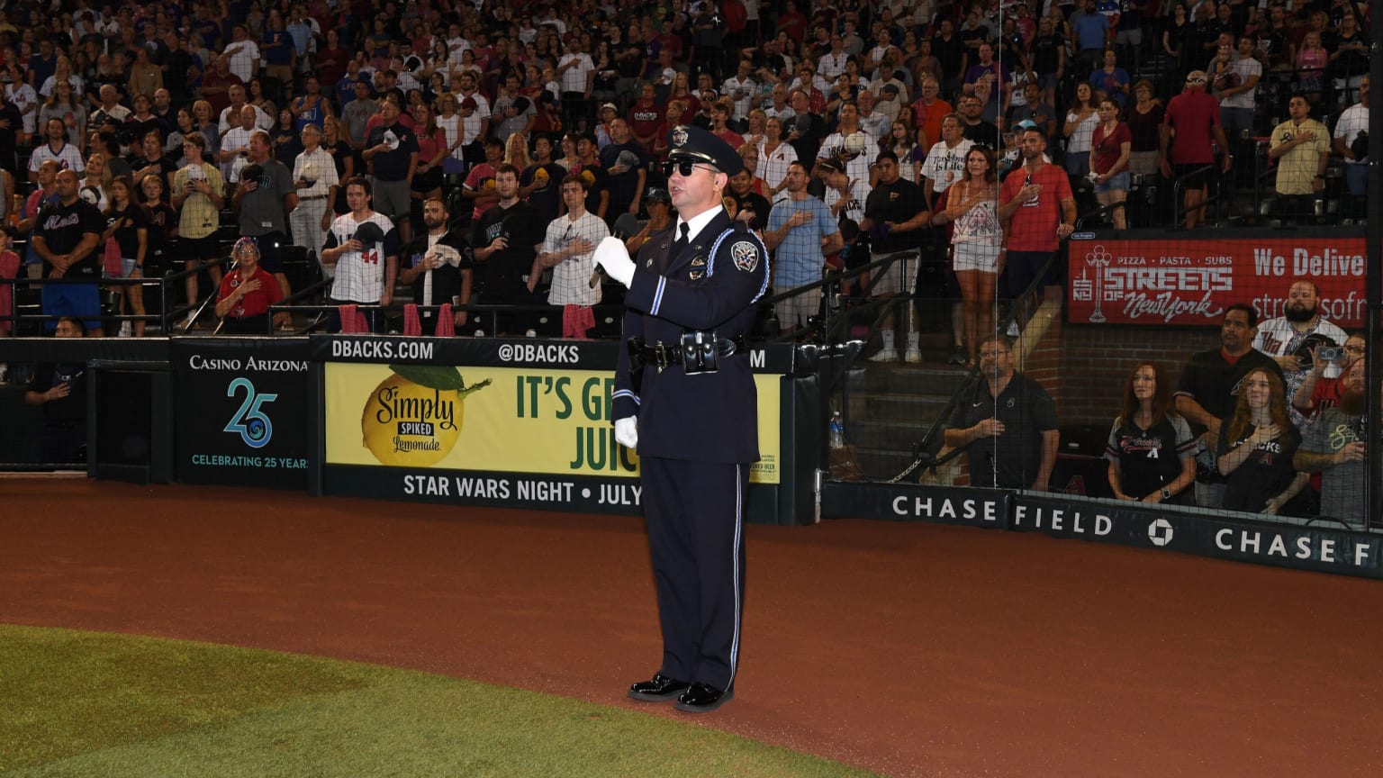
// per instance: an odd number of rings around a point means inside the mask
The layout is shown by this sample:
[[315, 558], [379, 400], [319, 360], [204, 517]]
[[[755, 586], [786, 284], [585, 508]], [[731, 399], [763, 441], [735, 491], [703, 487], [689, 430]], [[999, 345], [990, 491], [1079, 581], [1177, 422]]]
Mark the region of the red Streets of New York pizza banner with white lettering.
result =
[[1260, 318], [1283, 314], [1288, 289], [1308, 278], [1321, 289], [1321, 313], [1346, 329], [1364, 325], [1364, 238], [1263, 235], [1176, 239], [1070, 241], [1068, 278], [1072, 324], [1218, 324], [1231, 303]]

